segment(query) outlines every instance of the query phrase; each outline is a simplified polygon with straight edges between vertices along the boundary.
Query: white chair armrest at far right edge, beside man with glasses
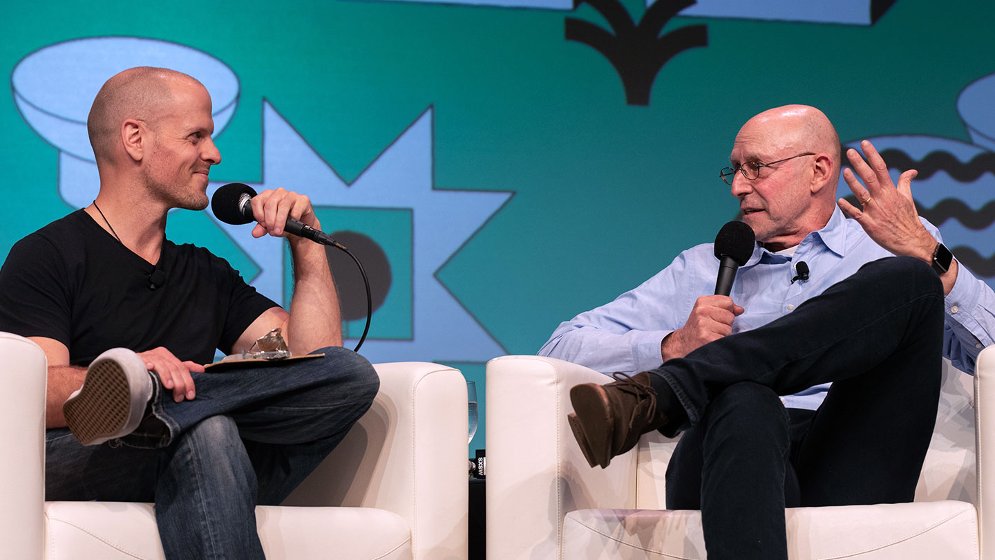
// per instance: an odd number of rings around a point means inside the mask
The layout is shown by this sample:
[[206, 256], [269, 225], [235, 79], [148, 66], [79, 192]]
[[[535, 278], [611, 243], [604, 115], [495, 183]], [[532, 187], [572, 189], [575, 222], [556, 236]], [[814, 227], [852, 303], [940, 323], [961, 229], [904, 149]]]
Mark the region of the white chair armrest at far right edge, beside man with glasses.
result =
[[995, 431], [984, 431], [995, 426], [995, 346], [982, 350], [974, 365], [974, 425], [981, 558], [995, 558], [995, 476], [987, 470], [995, 469]]

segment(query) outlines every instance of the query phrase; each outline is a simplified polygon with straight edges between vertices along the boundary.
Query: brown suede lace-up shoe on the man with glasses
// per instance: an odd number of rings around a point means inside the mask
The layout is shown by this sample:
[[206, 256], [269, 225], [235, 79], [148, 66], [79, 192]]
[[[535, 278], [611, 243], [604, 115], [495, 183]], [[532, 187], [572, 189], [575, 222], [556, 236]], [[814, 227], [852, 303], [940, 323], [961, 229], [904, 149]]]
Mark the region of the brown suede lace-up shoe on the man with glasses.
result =
[[667, 423], [657, 410], [650, 373], [612, 374], [606, 385], [585, 383], [570, 390], [574, 414], [567, 415], [573, 436], [592, 467], [608, 466], [612, 457], [636, 446], [640, 435]]

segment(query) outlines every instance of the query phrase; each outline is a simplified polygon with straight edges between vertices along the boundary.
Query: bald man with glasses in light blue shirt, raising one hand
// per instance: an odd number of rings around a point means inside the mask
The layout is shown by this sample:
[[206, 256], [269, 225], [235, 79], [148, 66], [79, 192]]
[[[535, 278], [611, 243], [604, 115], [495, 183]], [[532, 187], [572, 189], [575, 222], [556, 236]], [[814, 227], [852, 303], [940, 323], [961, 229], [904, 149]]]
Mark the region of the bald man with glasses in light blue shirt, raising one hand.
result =
[[842, 153], [825, 115], [750, 119], [719, 173], [757, 240], [730, 296], [707, 295], [718, 261], [698, 245], [539, 351], [618, 372], [570, 393], [592, 467], [650, 430], [683, 432], [667, 507], [701, 510], [710, 560], [786, 559], [786, 506], [911, 501], [941, 355], [971, 373], [993, 342], [995, 293], [917, 216], [916, 171], [895, 184], [861, 147], [867, 161], [849, 149], [843, 171], [857, 208], [837, 200]]

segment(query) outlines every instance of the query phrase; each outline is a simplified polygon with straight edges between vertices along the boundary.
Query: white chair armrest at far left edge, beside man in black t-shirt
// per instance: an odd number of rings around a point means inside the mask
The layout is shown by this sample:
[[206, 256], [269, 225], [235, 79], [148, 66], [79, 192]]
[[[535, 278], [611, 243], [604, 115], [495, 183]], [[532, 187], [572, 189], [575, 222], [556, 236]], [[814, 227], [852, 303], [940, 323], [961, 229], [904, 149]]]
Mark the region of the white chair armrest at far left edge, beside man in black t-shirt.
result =
[[45, 353], [0, 333], [0, 371], [9, 398], [0, 407], [0, 542], [4, 558], [33, 560], [45, 543]]

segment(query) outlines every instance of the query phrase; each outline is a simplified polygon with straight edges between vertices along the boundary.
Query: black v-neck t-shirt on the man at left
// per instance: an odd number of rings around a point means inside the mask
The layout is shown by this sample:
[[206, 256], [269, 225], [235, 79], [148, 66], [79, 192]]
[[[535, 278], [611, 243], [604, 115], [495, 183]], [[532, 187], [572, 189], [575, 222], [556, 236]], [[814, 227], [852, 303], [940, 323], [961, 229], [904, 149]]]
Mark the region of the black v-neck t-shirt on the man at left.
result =
[[0, 331], [55, 339], [76, 366], [158, 346], [207, 364], [276, 305], [207, 249], [165, 240], [153, 266], [83, 210], [18, 241], [0, 268]]

